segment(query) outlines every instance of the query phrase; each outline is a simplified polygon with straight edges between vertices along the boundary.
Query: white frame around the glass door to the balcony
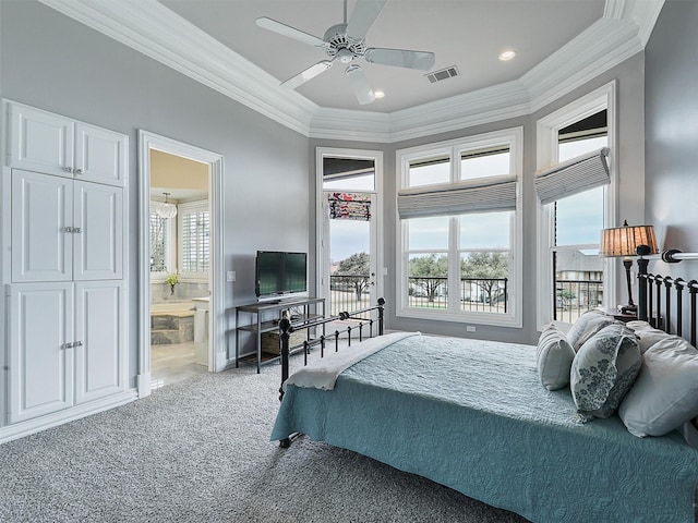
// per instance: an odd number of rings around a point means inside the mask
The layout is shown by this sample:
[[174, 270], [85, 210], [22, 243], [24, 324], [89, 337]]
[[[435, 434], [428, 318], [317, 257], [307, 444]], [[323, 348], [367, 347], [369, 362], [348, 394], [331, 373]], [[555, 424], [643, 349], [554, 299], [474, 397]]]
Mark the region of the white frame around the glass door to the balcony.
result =
[[[316, 287], [320, 295], [329, 293], [329, 281], [323, 282], [325, 267], [329, 267], [329, 260], [326, 259], [326, 250], [324, 246], [325, 234], [325, 215], [323, 205], [323, 158], [347, 158], [373, 160], [375, 170], [375, 197], [376, 208], [372, 216], [375, 217], [375, 253], [372, 253], [375, 260], [375, 296], [384, 297], [384, 278], [386, 269], [383, 266], [383, 151], [370, 149], [345, 149], [338, 147], [317, 147], [315, 149], [315, 250], [316, 250], [316, 267], [315, 275], [317, 278]], [[361, 192], [361, 191], [357, 191]], [[373, 224], [372, 224], [373, 227]], [[375, 305], [372, 303], [371, 305]]]

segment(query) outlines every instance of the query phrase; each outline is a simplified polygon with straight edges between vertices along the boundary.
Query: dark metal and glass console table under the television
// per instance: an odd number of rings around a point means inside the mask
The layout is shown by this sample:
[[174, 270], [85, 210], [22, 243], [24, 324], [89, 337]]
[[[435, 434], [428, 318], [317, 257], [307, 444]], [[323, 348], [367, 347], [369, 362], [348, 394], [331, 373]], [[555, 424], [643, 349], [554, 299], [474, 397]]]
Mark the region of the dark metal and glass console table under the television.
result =
[[[286, 300], [250, 303], [236, 307], [236, 368], [238, 368], [240, 364], [240, 333], [250, 332], [254, 336], [256, 366], [257, 374], [260, 374], [260, 367], [262, 365], [262, 335], [265, 332], [279, 332], [279, 319], [281, 319], [284, 312], [294, 307], [303, 308], [303, 313], [299, 315], [300, 317], [296, 320], [325, 317], [324, 297], [289, 297]], [[251, 315], [252, 320], [250, 324], [241, 325], [240, 317], [245, 314]], [[310, 331], [308, 331], [306, 336], [310, 336]], [[276, 361], [278, 358], [279, 356], [276, 356], [268, 361]]]

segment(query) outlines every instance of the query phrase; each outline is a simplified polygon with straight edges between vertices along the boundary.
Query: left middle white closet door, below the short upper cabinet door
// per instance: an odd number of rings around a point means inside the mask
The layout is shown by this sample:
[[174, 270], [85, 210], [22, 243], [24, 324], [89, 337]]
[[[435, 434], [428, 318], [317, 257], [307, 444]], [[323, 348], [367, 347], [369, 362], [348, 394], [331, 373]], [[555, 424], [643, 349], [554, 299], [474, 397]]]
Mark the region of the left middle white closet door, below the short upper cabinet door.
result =
[[12, 281], [73, 279], [73, 182], [12, 170]]

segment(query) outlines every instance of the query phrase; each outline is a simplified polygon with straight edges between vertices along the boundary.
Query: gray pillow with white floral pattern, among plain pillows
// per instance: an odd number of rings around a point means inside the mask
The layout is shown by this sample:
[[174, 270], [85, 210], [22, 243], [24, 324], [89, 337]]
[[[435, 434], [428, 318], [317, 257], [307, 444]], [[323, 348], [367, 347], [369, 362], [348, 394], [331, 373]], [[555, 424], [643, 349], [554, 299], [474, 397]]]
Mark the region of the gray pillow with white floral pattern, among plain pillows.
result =
[[604, 327], [581, 345], [571, 363], [569, 386], [582, 419], [611, 416], [633, 386], [642, 356], [633, 331]]

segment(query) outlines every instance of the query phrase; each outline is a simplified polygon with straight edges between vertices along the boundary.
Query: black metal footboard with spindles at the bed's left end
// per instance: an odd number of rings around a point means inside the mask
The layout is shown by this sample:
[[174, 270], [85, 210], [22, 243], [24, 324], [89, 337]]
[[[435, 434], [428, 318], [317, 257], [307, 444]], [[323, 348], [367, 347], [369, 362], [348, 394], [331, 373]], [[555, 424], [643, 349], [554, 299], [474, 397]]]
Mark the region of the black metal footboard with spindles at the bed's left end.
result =
[[[281, 358], [281, 385], [279, 387], [279, 401], [284, 399], [284, 384], [288, 379], [289, 376], [289, 357], [290, 357], [290, 337], [291, 332], [299, 330], [312, 329], [315, 327], [322, 327], [332, 321], [345, 321], [348, 319], [352, 319], [357, 321], [356, 326], [347, 325], [344, 329], [336, 329], [332, 335], [325, 336], [322, 335], [314, 340], [309, 340], [303, 342], [303, 365], [308, 365], [308, 356], [310, 354], [310, 350], [313, 346], [320, 346], [320, 357], [324, 357], [325, 349], [327, 342], [334, 340], [335, 342], [335, 352], [339, 350], [339, 337], [342, 333], [347, 335], [348, 344], [351, 345], [351, 333], [356, 330], [359, 331], [359, 342], [363, 340], [363, 338], [373, 338], [374, 336], [383, 336], [384, 332], [384, 308], [385, 308], [385, 300], [380, 297], [377, 305], [372, 307], [361, 308], [352, 312], [342, 312], [337, 316], [330, 316], [327, 318], [315, 319], [311, 321], [300, 321], [292, 323], [290, 318], [284, 316], [279, 321], [279, 337], [281, 340], [281, 349], [280, 349], [280, 358]], [[371, 313], [377, 313], [377, 319], [373, 319], [371, 317]], [[369, 317], [362, 317], [368, 313]], [[377, 325], [375, 325], [377, 324]], [[365, 330], [364, 330], [365, 329]], [[290, 439], [284, 439], [280, 441], [281, 448], [287, 448], [291, 445]]]

